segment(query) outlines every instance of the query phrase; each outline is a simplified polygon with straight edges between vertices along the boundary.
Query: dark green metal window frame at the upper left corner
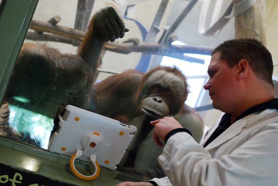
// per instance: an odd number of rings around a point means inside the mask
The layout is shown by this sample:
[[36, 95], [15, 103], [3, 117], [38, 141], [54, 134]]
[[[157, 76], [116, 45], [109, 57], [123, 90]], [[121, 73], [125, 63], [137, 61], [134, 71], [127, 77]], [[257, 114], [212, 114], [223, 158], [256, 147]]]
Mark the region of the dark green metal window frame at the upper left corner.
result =
[[0, 99], [39, 0], [2, 0], [0, 7]]

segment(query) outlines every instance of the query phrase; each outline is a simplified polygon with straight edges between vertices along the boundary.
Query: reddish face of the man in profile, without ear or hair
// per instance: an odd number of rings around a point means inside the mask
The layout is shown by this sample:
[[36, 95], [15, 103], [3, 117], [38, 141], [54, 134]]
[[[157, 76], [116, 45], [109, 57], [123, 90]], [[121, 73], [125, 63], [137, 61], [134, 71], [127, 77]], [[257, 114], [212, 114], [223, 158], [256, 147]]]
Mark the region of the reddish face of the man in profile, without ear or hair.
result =
[[230, 113], [231, 109], [236, 107], [237, 66], [231, 68], [225, 60], [220, 59], [220, 52], [217, 52], [211, 58], [208, 75], [209, 80], [204, 89], [209, 91], [213, 107]]

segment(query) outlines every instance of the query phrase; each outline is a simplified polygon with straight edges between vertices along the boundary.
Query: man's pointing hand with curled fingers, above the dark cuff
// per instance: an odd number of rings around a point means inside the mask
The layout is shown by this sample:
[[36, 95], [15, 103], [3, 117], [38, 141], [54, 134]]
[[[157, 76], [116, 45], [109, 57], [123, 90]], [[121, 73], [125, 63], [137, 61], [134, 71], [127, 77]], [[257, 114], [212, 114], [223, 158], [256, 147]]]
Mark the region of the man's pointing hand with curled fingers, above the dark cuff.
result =
[[165, 140], [165, 136], [174, 129], [177, 128], [183, 128], [179, 122], [173, 117], [164, 117], [162, 119], [158, 119], [155, 121], [150, 122], [151, 125], [154, 125], [154, 131], [153, 131], [153, 138], [154, 142], [158, 144], [158, 146], [162, 147], [163, 144], [159, 140], [161, 139], [162, 141]]

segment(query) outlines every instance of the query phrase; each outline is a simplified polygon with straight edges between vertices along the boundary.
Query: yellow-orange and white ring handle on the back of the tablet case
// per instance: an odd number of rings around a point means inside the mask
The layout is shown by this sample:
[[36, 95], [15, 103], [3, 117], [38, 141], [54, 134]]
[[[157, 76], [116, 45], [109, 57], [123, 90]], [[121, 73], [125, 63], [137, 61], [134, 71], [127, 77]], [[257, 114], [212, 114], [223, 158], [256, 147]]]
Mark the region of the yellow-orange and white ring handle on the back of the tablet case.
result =
[[85, 181], [95, 180], [96, 177], [99, 176], [99, 172], [100, 172], [99, 163], [96, 161], [96, 155], [92, 154], [91, 157], [90, 157], [90, 161], [95, 165], [95, 172], [94, 172], [93, 175], [84, 176], [84, 175], [80, 174], [74, 166], [75, 159], [77, 157], [81, 156], [82, 152], [83, 151], [77, 149], [76, 153], [70, 157], [70, 170], [74, 174], [74, 176], [78, 177], [81, 180], [85, 180]]

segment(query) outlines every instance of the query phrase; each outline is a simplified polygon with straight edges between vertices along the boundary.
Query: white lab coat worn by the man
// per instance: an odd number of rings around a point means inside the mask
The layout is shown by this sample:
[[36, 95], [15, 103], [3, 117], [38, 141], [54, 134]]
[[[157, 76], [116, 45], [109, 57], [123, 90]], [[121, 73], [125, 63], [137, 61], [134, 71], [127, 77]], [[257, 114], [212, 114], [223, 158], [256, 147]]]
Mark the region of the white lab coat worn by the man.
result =
[[217, 126], [200, 144], [186, 132], [171, 136], [158, 157], [167, 177], [153, 181], [159, 186], [278, 185], [277, 110], [239, 119], [204, 148]]

